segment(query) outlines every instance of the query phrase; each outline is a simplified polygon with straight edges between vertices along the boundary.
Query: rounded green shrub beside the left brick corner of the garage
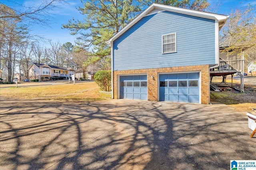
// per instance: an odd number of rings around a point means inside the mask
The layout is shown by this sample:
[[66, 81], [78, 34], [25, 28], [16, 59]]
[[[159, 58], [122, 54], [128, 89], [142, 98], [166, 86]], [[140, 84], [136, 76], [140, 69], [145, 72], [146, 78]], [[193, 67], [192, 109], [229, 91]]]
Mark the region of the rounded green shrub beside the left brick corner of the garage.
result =
[[94, 75], [94, 80], [100, 87], [100, 90], [111, 91], [111, 70], [100, 70]]

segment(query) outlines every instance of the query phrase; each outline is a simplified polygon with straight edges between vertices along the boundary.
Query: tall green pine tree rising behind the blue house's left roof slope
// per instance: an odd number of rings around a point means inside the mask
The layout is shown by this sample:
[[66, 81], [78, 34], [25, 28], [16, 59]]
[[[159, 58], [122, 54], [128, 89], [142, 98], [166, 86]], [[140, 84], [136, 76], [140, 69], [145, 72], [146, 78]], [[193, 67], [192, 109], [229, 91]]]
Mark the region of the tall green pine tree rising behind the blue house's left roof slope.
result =
[[96, 63], [110, 55], [110, 47], [105, 41], [152, 3], [200, 11], [209, 6], [207, 0], [86, 0], [83, 7], [78, 8], [85, 16], [84, 21], [73, 18], [62, 27], [70, 29], [72, 35], [80, 34], [76, 41], [80, 47], [88, 50], [93, 46], [94, 57], [86, 64]]

